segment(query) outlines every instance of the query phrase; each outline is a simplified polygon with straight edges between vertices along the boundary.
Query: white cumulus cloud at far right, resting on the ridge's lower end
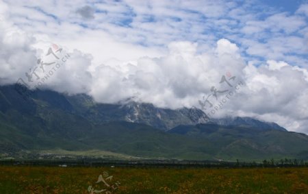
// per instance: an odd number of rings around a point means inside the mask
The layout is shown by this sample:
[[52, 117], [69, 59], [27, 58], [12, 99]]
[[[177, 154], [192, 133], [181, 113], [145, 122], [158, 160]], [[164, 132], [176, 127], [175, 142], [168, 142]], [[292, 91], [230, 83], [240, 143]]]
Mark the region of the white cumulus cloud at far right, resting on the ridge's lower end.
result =
[[[289, 130], [307, 132], [308, 82], [305, 69], [290, 66], [285, 62], [268, 61], [259, 68], [248, 65], [244, 68], [246, 90], [235, 103], [242, 112], [251, 112]], [[234, 107], [234, 108], [235, 108]]]

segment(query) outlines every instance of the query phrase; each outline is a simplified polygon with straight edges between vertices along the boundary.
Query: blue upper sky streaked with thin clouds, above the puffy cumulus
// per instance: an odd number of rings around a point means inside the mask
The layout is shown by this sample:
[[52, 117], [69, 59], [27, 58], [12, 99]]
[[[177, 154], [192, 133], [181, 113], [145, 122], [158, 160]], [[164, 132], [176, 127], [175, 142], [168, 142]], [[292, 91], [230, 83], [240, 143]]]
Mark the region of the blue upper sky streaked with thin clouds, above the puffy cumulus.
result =
[[[198, 43], [198, 51], [206, 51], [220, 38], [227, 38], [240, 45], [243, 56], [256, 65], [269, 58], [307, 64], [307, 1], [42, 2], [6, 1], [14, 8], [9, 11], [12, 21], [33, 34], [44, 32], [67, 40], [64, 35], [70, 34], [60, 31], [77, 25], [85, 28], [80, 31], [103, 31], [119, 43], [157, 52], [166, 52], [172, 41]], [[97, 57], [103, 61], [108, 56]]]

